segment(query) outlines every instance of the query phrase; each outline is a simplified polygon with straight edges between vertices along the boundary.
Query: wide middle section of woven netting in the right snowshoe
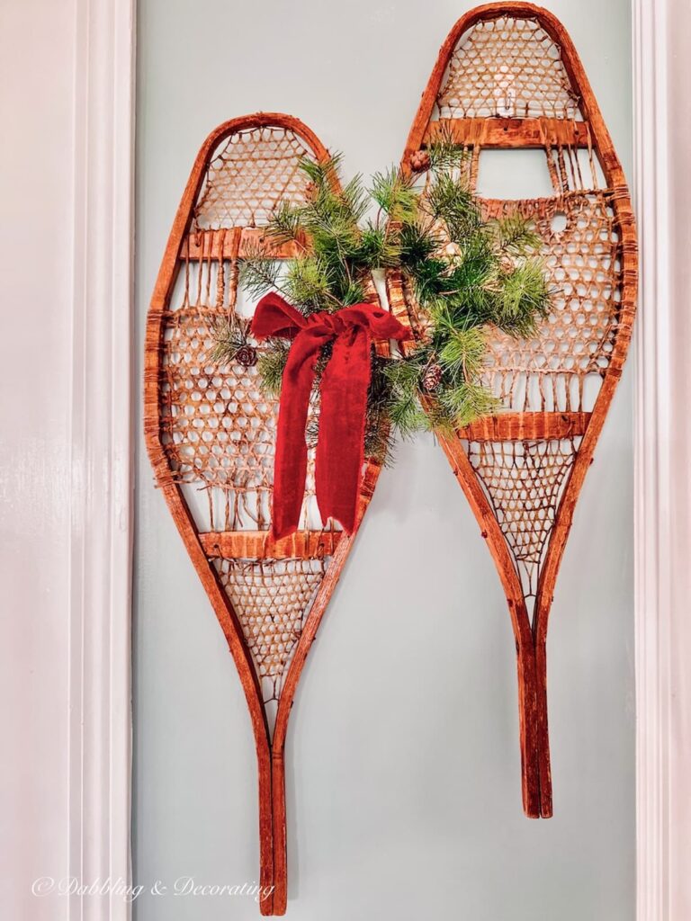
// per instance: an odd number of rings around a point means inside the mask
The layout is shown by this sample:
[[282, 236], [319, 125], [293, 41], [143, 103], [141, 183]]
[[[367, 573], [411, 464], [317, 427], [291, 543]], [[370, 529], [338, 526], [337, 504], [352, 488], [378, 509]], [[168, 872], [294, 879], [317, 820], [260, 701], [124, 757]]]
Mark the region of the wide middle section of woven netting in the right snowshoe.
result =
[[[488, 216], [533, 218], [552, 309], [532, 339], [488, 339], [486, 385], [516, 412], [590, 411], [614, 349], [621, 289], [615, 217], [603, 191], [537, 201], [485, 202]], [[561, 217], [563, 230], [553, 229]], [[594, 379], [593, 379], [594, 376]]]

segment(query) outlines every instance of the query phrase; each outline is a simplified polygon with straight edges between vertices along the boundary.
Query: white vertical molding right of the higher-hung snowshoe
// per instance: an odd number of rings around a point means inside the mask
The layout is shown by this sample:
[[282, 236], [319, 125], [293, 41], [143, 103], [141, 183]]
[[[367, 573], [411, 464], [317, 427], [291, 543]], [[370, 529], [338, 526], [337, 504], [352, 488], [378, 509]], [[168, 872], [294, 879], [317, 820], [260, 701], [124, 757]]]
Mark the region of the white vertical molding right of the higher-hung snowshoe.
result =
[[[691, 131], [687, 5], [634, 0], [636, 200], [640, 238], [636, 424], [638, 921], [691, 917], [689, 707], [691, 502], [686, 370]], [[677, 47], [676, 43], [679, 42]], [[676, 68], [685, 71], [684, 85]], [[686, 109], [688, 107], [686, 106]], [[686, 207], [677, 206], [685, 196]], [[675, 249], [678, 248], [678, 249]], [[686, 664], [685, 664], [686, 663]]]

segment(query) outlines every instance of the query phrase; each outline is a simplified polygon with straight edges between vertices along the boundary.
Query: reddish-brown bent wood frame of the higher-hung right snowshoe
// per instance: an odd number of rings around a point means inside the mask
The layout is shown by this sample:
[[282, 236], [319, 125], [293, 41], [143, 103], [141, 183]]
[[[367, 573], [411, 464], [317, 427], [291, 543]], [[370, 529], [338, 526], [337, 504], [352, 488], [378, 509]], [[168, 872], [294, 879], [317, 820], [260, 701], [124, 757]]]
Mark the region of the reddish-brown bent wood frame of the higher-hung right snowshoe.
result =
[[[427, 87], [420, 101], [416, 118], [405, 145], [402, 169], [409, 171], [411, 155], [425, 146], [427, 130], [429, 122], [432, 120], [441, 81], [456, 44], [463, 34], [480, 20], [498, 17], [530, 18], [538, 21], [561, 49], [562, 61], [568, 77], [580, 96], [580, 111], [584, 120], [590, 125], [591, 143], [600, 158], [607, 187], [614, 191], [613, 208], [617, 230], [621, 237], [622, 251], [622, 297], [614, 349], [593, 411], [585, 426], [579, 453], [568, 475], [557, 509], [555, 525], [549, 539], [545, 561], [538, 580], [532, 625], [523, 598], [521, 581], [513, 565], [509, 547], [501, 532], [495, 512], [463, 449], [462, 438], [464, 433], [458, 433], [457, 437], [439, 438], [441, 446], [451, 463], [451, 468], [473, 508], [482, 536], [486, 540], [489, 552], [492, 554], [497, 566], [498, 575], [509, 603], [518, 662], [523, 810], [531, 818], [548, 818], [552, 815], [553, 808], [547, 728], [547, 623], [554, 599], [556, 576], [564, 554], [568, 531], [571, 528], [574, 507], [580, 495], [585, 474], [591, 464], [593, 451], [602, 431], [604, 419], [612, 402], [616, 385], [621, 377], [631, 340], [638, 286], [637, 235], [627, 181], [616, 156], [612, 139], [603, 121], [602, 113], [592, 92], [590, 82], [585, 74], [583, 65], [580, 63], [578, 52], [576, 52], [568, 32], [558, 19], [543, 7], [534, 6], [530, 3], [491, 3], [485, 6], [478, 6], [461, 17], [454, 25], [446, 41], [441, 46], [437, 63], [429, 77]], [[500, 146], [522, 147], [535, 145], [531, 134], [526, 134], [521, 128], [521, 124], [517, 123], [518, 120], [493, 119], [491, 121], [504, 122], [503, 128], [495, 126], [499, 128], [498, 136], [505, 135]], [[533, 120], [521, 121], [533, 122]], [[397, 299], [400, 303], [401, 298], [398, 297]], [[539, 414], [530, 415], [533, 416], [532, 437], [534, 437], [534, 416]], [[556, 414], [545, 413], [542, 415], [545, 417], [544, 431], [546, 431], [551, 425], [550, 417]], [[467, 433], [465, 433], [465, 436], [467, 437]], [[521, 437], [520, 427], [515, 426], [515, 421], [510, 437], [516, 439]]]

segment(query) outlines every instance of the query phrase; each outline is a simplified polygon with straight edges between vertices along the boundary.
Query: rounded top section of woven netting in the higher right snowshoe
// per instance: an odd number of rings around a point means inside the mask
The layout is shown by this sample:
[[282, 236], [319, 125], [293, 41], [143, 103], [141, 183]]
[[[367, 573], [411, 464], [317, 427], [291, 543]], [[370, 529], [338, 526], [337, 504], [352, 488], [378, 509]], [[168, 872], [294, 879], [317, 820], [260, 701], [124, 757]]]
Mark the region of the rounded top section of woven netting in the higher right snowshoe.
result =
[[578, 118], [556, 42], [532, 19], [484, 19], [456, 46], [441, 118]]

